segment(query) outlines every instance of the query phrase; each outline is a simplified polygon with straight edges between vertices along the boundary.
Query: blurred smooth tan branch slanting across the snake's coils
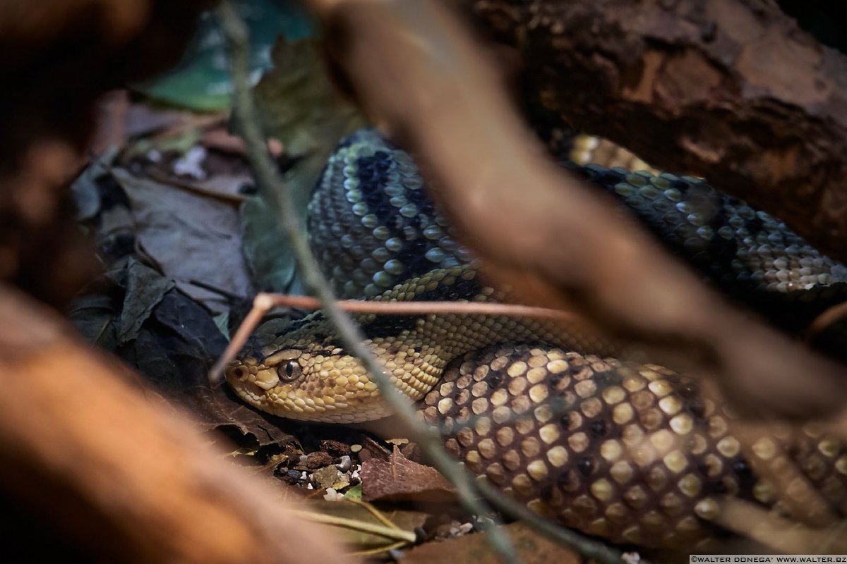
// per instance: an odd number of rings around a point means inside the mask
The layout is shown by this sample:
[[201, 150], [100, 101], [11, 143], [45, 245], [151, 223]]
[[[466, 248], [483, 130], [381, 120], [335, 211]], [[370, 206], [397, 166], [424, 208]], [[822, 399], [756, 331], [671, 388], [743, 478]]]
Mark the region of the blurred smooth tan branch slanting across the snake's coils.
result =
[[582, 309], [667, 364], [713, 375], [745, 413], [833, 413], [844, 370], [730, 308], [606, 200], [549, 162], [495, 70], [440, 3], [313, 0], [363, 107], [438, 181], [497, 277]]

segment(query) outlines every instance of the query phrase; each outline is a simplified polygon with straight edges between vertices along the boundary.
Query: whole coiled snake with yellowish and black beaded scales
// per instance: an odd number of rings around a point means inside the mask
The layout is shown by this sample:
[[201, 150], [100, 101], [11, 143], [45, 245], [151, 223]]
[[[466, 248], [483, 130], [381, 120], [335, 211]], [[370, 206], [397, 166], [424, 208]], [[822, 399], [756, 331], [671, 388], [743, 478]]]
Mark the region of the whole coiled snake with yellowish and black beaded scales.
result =
[[[847, 298], [847, 268], [697, 178], [566, 164], [786, 331]], [[346, 298], [501, 298], [479, 281], [410, 156], [374, 130], [338, 145], [308, 228]], [[685, 375], [615, 359], [615, 346], [579, 323], [355, 317], [396, 386], [440, 425], [447, 450], [535, 512], [614, 542], [704, 550], [725, 534], [711, 523], [723, 496], [788, 512], [753, 473], [722, 402]], [[256, 408], [340, 423], [390, 414], [320, 312], [280, 335], [260, 328], [248, 347], [226, 377]], [[833, 514], [847, 513], [847, 449], [833, 437], [812, 425], [791, 441], [766, 433], [752, 452], [760, 464], [799, 468], [794, 479], [822, 492]]]

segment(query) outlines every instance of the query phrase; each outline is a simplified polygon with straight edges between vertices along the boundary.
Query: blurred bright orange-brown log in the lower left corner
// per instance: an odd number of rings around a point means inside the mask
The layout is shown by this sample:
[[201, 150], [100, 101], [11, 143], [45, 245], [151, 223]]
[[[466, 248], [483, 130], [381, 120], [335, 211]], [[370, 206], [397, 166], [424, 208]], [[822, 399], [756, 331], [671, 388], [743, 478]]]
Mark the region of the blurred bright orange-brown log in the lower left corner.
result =
[[108, 561], [348, 561], [71, 332], [0, 287], [0, 490]]

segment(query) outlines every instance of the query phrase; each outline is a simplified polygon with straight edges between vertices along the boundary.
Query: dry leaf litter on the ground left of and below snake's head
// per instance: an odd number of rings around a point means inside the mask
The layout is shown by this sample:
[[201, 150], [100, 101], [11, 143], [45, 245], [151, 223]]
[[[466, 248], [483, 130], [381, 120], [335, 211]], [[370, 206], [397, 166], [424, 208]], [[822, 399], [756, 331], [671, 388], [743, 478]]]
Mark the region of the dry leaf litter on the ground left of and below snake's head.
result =
[[[333, 89], [317, 41], [281, 37], [272, 57], [255, 91], [266, 133], [278, 140], [274, 156], [305, 214], [335, 143], [365, 120]], [[136, 368], [152, 401], [190, 413], [236, 463], [282, 488], [297, 486], [313, 511], [391, 523], [418, 542], [449, 539], [407, 551], [410, 561], [493, 558], [480, 535], [467, 535], [475, 525], [462, 517], [451, 484], [404, 454], [413, 445], [389, 451], [361, 430], [286, 421], [249, 408], [226, 386], [208, 386], [208, 369], [256, 290], [299, 286], [293, 255], [222, 116], [162, 116], [145, 101], [133, 107], [136, 135], [93, 160], [74, 184], [80, 225], [104, 265], [69, 309], [80, 333]], [[289, 316], [266, 327], [282, 329]], [[570, 561], [572, 553], [556, 552], [523, 526], [506, 529], [524, 561]], [[396, 557], [414, 542], [336, 530], [369, 556]]]

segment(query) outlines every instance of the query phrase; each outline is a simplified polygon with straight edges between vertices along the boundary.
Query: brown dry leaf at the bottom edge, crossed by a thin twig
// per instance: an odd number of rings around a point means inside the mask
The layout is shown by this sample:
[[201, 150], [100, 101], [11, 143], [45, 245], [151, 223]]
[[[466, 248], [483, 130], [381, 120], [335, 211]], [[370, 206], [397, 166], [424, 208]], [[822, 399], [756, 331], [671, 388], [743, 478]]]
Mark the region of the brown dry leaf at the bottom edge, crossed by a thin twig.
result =
[[[500, 527], [512, 539], [518, 551], [518, 561], [523, 564], [580, 564], [582, 560], [573, 550], [556, 544], [523, 523], [512, 523]], [[451, 564], [479, 564], [496, 562], [498, 556], [485, 539], [484, 534], [466, 534], [456, 539], [429, 542], [409, 550], [403, 562], [451, 562]]]

